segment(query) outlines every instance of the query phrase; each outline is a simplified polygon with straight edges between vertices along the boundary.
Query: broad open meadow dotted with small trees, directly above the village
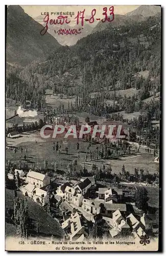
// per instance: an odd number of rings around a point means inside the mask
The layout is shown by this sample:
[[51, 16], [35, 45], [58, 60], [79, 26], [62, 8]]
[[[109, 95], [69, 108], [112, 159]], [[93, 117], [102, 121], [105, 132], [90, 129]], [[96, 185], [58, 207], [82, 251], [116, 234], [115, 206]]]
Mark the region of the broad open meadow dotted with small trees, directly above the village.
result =
[[[72, 137], [72, 138], [71, 138]], [[78, 159], [77, 153], [77, 142], [78, 139], [73, 139], [71, 136], [67, 143], [63, 142], [62, 137], [58, 137], [58, 140], [61, 144], [60, 154], [53, 150], [53, 142], [56, 139], [44, 140], [41, 139], [39, 134], [30, 136], [30, 139], [26, 142], [21, 142], [16, 145], [16, 153], [14, 154], [13, 150], [9, 147], [6, 150], [6, 159], [13, 163], [19, 162], [21, 159], [20, 148], [23, 148], [23, 154], [25, 154], [25, 149], [27, 148], [26, 153], [26, 162], [29, 167], [37, 166], [39, 163], [40, 167], [44, 166], [44, 160], [48, 161], [48, 168], [51, 167], [53, 162], [57, 163], [57, 167], [60, 170], [67, 170], [67, 165], [73, 160], [77, 160], [82, 166], [84, 166], [85, 155], [87, 151], [88, 142], [80, 141], [79, 151], [80, 151], [80, 158]], [[37, 139], [36, 139], [37, 138]], [[20, 138], [18, 138], [19, 140]], [[15, 139], [17, 141], [17, 139]], [[35, 140], [37, 142], [35, 142]], [[66, 154], [65, 147], [68, 147], [68, 154]], [[96, 156], [96, 147], [97, 145], [91, 145], [88, 152], [93, 151], [94, 155]], [[99, 152], [102, 151], [102, 146], [98, 145]], [[23, 160], [23, 159], [22, 159]], [[134, 173], [134, 166], [138, 168], [143, 168], [144, 170], [149, 170], [150, 173], [155, 173], [157, 171], [158, 165], [154, 163], [154, 156], [153, 151], [152, 154], [145, 153], [144, 148], [140, 148], [140, 153], [137, 155], [128, 155], [128, 156], [120, 156], [114, 157], [111, 160], [104, 160], [99, 159], [97, 160], [96, 157], [92, 161], [90, 160], [89, 154], [87, 155], [87, 160], [85, 162], [85, 166], [88, 170], [91, 169], [92, 164], [97, 164], [97, 166], [102, 166], [105, 164], [106, 166], [111, 166], [112, 173], [119, 173], [122, 170], [123, 164], [125, 165], [125, 169], [128, 170], [130, 173]]]

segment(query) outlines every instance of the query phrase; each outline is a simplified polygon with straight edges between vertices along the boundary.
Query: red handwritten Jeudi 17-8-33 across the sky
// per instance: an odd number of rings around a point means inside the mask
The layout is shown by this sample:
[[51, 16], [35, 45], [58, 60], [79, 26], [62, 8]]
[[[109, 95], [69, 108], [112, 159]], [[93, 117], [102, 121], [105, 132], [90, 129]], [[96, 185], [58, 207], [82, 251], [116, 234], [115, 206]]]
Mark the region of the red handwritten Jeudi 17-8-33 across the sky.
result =
[[[85, 9], [83, 11], [78, 11], [77, 16], [75, 17], [76, 24], [84, 26], [84, 23], [92, 24], [95, 20], [101, 20], [101, 22], [113, 22], [114, 20], [114, 7], [111, 6], [109, 9], [107, 7], [103, 8], [103, 18], [96, 17], [96, 9], [91, 11], [91, 16], [89, 19], [85, 19]], [[49, 25], [64, 25], [69, 24], [71, 20], [69, 20], [68, 16], [59, 15], [56, 19], [50, 19], [49, 14], [45, 15], [43, 22], [45, 23], [45, 27], [40, 31], [41, 35], [44, 35], [49, 28]], [[73, 33], [70, 33], [73, 34]]]

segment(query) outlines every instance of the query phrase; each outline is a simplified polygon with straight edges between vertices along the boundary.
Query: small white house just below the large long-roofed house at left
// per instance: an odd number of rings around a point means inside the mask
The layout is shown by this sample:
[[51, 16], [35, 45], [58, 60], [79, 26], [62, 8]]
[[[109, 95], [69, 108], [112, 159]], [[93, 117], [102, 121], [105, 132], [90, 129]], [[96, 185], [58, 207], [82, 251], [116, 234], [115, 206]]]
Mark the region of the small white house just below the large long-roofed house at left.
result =
[[45, 190], [35, 187], [32, 191], [32, 198], [36, 203], [41, 204], [42, 206], [48, 203], [48, 195]]

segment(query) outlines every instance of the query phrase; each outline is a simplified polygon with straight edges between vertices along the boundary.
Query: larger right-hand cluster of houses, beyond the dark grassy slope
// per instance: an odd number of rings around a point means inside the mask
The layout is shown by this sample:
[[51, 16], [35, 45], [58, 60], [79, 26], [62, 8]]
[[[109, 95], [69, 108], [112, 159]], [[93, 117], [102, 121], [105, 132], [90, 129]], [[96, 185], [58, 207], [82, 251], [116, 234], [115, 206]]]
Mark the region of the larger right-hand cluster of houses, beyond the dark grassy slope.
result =
[[[90, 198], [89, 190], [95, 190], [95, 198]], [[137, 216], [128, 210], [126, 203], [122, 203], [122, 189], [99, 187], [98, 191], [96, 190], [94, 177], [83, 177], [75, 184], [68, 181], [57, 188], [56, 199], [62, 200], [61, 225], [67, 238], [82, 241], [90, 236], [91, 227], [98, 217], [105, 222], [110, 238], [127, 236], [140, 240], [147, 230], [158, 232], [154, 215]]]

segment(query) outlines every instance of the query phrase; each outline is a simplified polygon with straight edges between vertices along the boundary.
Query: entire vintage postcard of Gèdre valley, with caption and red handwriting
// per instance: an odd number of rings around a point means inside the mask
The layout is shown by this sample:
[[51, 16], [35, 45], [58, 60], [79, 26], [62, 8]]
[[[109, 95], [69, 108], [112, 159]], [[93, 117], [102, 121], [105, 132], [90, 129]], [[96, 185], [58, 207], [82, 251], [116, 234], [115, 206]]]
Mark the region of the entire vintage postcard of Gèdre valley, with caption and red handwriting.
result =
[[158, 251], [161, 22], [6, 6], [7, 251]]

